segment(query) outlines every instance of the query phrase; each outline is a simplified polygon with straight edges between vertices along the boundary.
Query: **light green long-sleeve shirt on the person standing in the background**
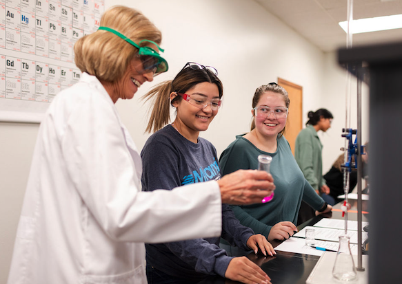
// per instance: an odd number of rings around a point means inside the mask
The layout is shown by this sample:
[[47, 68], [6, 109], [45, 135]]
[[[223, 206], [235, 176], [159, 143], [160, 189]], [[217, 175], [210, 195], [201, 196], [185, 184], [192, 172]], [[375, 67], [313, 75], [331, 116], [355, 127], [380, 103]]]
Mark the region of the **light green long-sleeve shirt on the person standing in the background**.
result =
[[308, 125], [308, 127], [299, 132], [294, 145], [294, 157], [305, 179], [314, 189], [319, 189], [325, 184], [322, 150], [323, 144], [321, 144], [317, 131], [312, 125]]

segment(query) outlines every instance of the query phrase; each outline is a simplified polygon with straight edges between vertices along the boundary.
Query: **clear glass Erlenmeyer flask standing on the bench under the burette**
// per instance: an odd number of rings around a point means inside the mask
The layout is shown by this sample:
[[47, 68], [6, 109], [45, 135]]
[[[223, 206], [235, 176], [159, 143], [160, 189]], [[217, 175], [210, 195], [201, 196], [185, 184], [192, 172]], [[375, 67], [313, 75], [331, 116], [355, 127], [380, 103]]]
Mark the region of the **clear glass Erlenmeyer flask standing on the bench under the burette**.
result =
[[339, 250], [336, 254], [332, 275], [343, 282], [355, 281], [357, 278], [348, 235], [339, 236]]

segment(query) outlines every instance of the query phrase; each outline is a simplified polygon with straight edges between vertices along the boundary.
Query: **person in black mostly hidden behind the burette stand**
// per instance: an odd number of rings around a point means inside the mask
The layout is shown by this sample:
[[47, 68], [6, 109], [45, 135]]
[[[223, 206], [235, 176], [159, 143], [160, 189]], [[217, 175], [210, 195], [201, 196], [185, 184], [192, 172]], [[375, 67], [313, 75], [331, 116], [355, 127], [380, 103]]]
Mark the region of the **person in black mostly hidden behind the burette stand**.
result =
[[[368, 142], [365, 143], [364, 147], [364, 155], [361, 155], [362, 165], [363, 165], [363, 177], [367, 176], [368, 173]], [[328, 194], [328, 204], [334, 205], [343, 199], [339, 199], [339, 195], [345, 194], [343, 190], [343, 168], [341, 167], [344, 164], [345, 154], [339, 155], [336, 159], [330, 171], [325, 173], [324, 179], [327, 183], [328, 187], [330, 188], [330, 193]], [[352, 156], [352, 162], [354, 162], [354, 156]], [[356, 168], [352, 168], [352, 172], [349, 175], [349, 193], [352, 192], [353, 188], [357, 184], [357, 171]]]

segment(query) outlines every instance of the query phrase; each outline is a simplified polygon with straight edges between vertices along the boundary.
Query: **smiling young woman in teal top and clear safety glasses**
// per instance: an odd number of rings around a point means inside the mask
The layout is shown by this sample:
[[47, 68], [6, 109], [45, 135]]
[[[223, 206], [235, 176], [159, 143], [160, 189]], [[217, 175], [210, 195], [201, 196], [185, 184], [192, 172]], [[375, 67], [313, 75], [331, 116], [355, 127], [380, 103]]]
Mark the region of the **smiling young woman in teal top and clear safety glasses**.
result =
[[[256, 169], [261, 154], [272, 157], [270, 172], [276, 186], [272, 201], [231, 206], [243, 226], [263, 234], [268, 241], [288, 239], [297, 231], [294, 223], [302, 200], [319, 211], [317, 214], [332, 210], [304, 178], [283, 136], [289, 105], [288, 92], [283, 87], [276, 83], [258, 87], [252, 98], [251, 131], [237, 135], [219, 160], [225, 177], [239, 169]], [[221, 241], [222, 248], [235, 254], [232, 252], [235, 249], [228, 245]]]

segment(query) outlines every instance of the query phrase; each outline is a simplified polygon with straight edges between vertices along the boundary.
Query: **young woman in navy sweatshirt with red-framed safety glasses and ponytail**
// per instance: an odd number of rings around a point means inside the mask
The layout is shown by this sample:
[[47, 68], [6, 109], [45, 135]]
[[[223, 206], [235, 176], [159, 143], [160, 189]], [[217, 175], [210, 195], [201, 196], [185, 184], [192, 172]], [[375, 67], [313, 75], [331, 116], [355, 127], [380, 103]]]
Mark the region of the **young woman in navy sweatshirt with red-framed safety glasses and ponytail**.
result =
[[[217, 75], [214, 67], [189, 62], [173, 80], [145, 94], [144, 98], [155, 101], [147, 131], [156, 132], [141, 151], [143, 190], [172, 189], [221, 178], [216, 149], [199, 137], [221, 106], [223, 86]], [[168, 124], [170, 105], [176, 110], [176, 118]], [[265, 255], [275, 253], [265, 237], [241, 226], [228, 204], [222, 204], [222, 237], [256, 254], [258, 249]], [[219, 248], [219, 239], [145, 244], [148, 283], [192, 283], [213, 274], [244, 283], [260, 281], [256, 274], [263, 273], [261, 268], [245, 256], [228, 256]]]

